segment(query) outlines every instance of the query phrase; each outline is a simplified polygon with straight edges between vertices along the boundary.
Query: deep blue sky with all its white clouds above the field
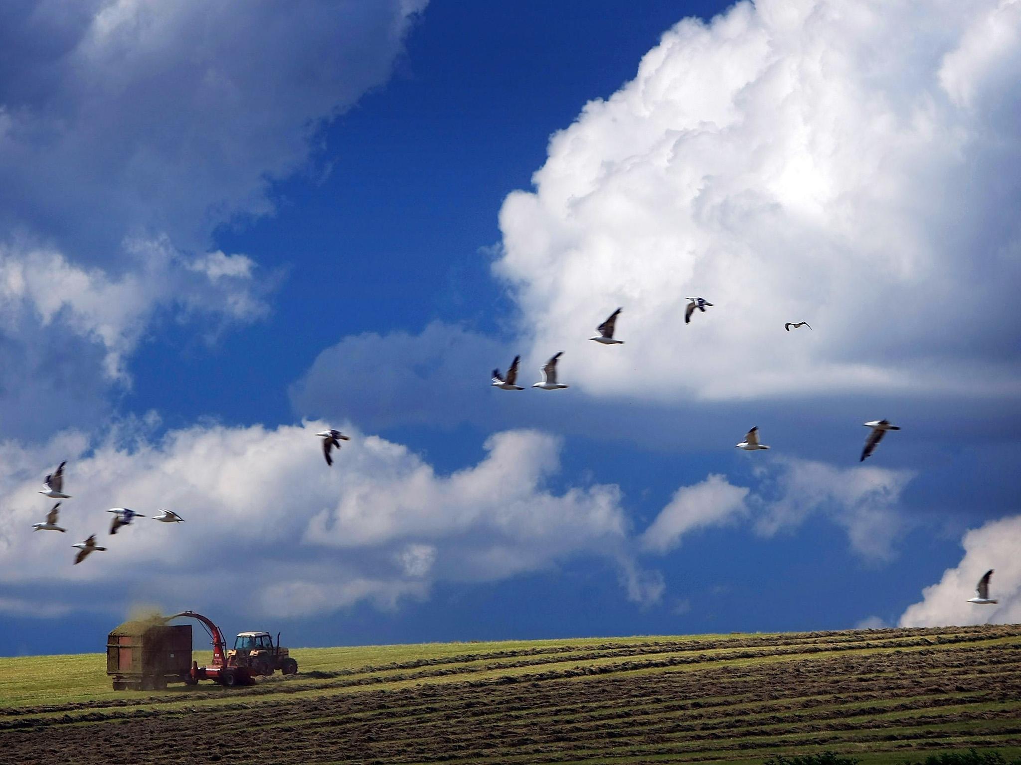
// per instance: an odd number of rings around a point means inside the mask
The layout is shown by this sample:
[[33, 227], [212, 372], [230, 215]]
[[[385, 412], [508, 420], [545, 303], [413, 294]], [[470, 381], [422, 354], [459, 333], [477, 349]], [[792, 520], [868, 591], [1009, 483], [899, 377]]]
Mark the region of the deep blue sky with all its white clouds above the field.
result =
[[0, 11], [4, 653], [1021, 618], [1015, 6], [296, 7]]

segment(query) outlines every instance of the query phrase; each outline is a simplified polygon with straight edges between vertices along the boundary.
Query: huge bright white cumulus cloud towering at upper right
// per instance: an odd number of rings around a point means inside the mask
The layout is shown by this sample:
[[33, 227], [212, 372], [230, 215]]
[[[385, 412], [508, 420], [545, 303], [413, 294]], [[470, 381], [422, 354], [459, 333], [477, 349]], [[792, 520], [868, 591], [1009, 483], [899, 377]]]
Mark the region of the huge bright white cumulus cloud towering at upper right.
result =
[[[671, 404], [1017, 397], [1019, 28], [1006, 0], [674, 27], [503, 203], [525, 367], [564, 350], [576, 390]], [[715, 307], [685, 325], [688, 295]], [[617, 306], [626, 345], [589, 343]]]

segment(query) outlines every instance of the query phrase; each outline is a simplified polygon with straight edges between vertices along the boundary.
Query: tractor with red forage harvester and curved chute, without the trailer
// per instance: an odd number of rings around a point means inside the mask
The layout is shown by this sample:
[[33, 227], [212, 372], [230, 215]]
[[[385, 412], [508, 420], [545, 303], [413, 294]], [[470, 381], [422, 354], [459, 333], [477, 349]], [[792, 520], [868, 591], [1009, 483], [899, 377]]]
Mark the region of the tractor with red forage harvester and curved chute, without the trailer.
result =
[[200, 667], [198, 662], [193, 661], [189, 677], [185, 680], [190, 684], [209, 679], [230, 687], [248, 684], [253, 677], [273, 674], [278, 669], [284, 674], [298, 671], [298, 663], [290, 657], [286, 648], [281, 648], [279, 632], [277, 645], [274, 645], [269, 632], [241, 632], [234, 641], [234, 649], [227, 651], [224, 633], [211, 619], [194, 611], [184, 611], [165, 617], [164, 621], [179, 616], [197, 619], [212, 639], [212, 664]]

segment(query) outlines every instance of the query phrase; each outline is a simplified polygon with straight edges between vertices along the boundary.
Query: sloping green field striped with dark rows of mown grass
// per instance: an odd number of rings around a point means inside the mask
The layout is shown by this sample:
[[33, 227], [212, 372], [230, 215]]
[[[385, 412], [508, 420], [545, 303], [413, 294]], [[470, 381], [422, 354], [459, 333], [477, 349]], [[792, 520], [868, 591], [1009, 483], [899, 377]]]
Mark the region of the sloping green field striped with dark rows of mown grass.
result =
[[1021, 756], [1019, 625], [292, 656], [294, 676], [164, 692], [113, 692], [100, 654], [0, 659], [0, 762], [194, 763], [201, 753], [254, 763], [750, 765], [832, 750], [900, 763], [969, 747]]

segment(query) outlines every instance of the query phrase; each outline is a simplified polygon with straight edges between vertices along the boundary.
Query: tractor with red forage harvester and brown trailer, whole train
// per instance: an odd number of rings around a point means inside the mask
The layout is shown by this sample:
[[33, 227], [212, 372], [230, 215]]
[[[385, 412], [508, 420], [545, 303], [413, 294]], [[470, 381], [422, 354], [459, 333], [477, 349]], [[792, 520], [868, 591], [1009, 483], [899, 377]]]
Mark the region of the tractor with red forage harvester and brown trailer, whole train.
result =
[[[192, 661], [190, 626], [166, 624], [179, 617], [196, 619], [205, 628], [212, 641], [211, 664], [200, 667]], [[160, 690], [167, 682], [194, 685], [205, 679], [230, 687], [247, 684], [278, 669], [284, 674], [298, 671], [298, 663], [280, 645], [280, 632], [276, 643], [269, 632], [241, 632], [228, 651], [220, 627], [194, 611], [182, 611], [157, 621], [125, 622], [110, 632], [106, 654], [106, 673], [113, 676], [114, 691]]]

